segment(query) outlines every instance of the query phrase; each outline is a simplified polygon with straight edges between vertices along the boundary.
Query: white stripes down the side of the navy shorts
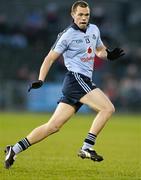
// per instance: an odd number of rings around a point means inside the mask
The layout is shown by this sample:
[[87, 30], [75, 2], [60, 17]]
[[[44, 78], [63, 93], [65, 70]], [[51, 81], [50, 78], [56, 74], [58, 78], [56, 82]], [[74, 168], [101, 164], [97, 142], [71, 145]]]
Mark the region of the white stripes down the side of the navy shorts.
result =
[[84, 89], [85, 92], [90, 92], [91, 88], [84, 82], [84, 80], [80, 77], [80, 75], [78, 75], [78, 73], [73, 73], [75, 79], [77, 80], [77, 82], [80, 84], [80, 86]]

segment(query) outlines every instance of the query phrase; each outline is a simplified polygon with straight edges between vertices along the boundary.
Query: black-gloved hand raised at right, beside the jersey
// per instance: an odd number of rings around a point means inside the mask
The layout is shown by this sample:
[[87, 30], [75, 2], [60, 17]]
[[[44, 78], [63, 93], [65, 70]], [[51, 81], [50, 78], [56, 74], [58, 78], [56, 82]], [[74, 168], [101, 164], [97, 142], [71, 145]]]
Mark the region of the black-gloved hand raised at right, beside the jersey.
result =
[[114, 61], [117, 58], [125, 55], [124, 50], [121, 48], [115, 48], [111, 51], [109, 49], [106, 49], [106, 51], [107, 51], [107, 59], [109, 59], [110, 61]]

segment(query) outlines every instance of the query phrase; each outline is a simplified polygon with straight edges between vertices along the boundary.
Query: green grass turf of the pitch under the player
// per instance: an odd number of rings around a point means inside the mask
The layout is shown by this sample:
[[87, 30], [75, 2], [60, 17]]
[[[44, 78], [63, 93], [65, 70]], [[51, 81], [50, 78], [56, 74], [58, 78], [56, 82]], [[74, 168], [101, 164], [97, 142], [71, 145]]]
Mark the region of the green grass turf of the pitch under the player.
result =
[[14, 166], [3, 167], [4, 147], [25, 137], [50, 115], [0, 113], [0, 180], [139, 180], [141, 116], [114, 115], [97, 138], [104, 161], [77, 157], [93, 116], [75, 115], [61, 130], [21, 153]]

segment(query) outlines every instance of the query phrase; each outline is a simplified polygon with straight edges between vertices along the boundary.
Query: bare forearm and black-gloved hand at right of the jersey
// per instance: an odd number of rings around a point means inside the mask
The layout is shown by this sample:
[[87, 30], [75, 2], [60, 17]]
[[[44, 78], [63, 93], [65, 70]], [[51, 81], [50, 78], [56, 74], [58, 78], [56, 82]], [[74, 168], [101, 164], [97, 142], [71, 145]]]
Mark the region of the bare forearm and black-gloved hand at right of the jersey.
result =
[[115, 48], [109, 50], [106, 46], [102, 45], [96, 48], [96, 55], [102, 59], [108, 59], [114, 61], [119, 57], [125, 55], [124, 50], [121, 48]]

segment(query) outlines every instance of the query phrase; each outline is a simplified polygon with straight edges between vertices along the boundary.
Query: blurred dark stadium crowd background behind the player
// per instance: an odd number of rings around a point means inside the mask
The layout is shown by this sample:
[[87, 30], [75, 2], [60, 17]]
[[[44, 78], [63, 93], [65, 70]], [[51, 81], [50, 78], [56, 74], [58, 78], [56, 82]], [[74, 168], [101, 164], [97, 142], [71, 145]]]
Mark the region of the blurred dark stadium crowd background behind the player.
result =
[[[27, 92], [57, 34], [71, 22], [72, 0], [0, 0], [0, 111], [50, 112], [61, 95], [66, 69], [60, 57], [46, 83]], [[95, 58], [94, 82], [119, 112], [141, 109], [141, 1], [87, 0], [108, 48], [126, 55], [116, 62]], [[83, 107], [82, 112], [90, 112]]]

